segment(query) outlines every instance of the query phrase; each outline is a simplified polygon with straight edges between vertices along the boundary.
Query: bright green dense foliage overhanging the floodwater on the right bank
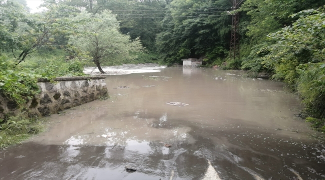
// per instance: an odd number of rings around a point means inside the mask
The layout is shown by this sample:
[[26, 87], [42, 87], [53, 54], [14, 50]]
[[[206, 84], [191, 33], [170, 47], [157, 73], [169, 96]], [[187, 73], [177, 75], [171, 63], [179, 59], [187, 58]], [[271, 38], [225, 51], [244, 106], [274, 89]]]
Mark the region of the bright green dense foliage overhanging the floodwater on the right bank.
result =
[[266, 72], [286, 82], [305, 104], [307, 120], [325, 131], [325, 13], [324, 7], [290, 15], [292, 25], [269, 33], [252, 47], [242, 68], [253, 75]]

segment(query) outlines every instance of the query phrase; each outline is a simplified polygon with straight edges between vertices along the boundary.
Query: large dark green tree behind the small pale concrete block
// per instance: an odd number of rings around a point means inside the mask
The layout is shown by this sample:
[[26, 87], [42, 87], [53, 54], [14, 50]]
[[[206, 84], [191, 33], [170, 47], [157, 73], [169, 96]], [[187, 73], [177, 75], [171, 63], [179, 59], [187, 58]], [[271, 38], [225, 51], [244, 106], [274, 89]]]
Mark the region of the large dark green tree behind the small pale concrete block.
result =
[[157, 48], [168, 64], [181, 58], [224, 57], [228, 48], [230, 17], [228, 0], [173, 0], [167, 5]]

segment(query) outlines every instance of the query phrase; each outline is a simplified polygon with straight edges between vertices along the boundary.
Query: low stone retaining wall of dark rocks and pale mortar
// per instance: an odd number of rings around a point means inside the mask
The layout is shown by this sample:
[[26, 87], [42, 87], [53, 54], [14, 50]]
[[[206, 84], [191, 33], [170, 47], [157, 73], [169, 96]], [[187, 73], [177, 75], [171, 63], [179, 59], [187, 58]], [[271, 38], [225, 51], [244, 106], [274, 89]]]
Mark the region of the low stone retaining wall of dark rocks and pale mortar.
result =
[[[39, 79], [37, 84], [40, 93], [30, 99], [22, 110], [29, 116], [46, 116], [57, 113], [107, 95], [105, 76], [90, 77], [57, 77], [54, 83], [47, 79]], [[0, 94], [0, 118], [5, 114], [17, 114], [21, 111], [18, 105]]]

